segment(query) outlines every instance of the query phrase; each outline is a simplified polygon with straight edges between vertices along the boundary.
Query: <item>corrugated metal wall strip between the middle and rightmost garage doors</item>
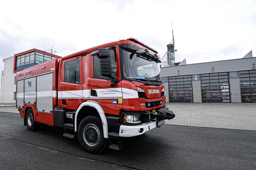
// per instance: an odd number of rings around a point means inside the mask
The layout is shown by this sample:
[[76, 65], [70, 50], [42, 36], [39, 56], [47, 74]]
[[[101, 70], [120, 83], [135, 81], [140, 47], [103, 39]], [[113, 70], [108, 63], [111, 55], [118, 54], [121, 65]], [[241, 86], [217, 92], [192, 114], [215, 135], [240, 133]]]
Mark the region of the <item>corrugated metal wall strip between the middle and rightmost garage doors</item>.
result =
[[231, 102], [241, 103], [240, 79], [230, 78], [229, 84], [230, 84]]

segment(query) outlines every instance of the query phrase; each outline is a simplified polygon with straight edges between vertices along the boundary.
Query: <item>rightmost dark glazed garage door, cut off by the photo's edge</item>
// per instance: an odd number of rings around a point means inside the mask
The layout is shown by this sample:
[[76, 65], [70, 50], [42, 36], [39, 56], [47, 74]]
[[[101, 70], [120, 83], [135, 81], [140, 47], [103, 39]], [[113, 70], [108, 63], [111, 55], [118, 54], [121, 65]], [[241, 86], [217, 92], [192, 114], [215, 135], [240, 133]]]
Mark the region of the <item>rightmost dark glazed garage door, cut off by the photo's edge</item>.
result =
[[240, 71], [242, 103], [256, 102], [256, 70]]

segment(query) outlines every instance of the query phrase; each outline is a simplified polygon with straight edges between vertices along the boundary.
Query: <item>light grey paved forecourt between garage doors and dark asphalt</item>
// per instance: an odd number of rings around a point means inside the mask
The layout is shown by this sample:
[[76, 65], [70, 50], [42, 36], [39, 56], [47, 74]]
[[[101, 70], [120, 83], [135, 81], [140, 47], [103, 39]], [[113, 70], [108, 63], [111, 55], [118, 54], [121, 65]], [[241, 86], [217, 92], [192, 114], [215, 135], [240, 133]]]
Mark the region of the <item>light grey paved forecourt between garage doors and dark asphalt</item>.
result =
[[256, 130], [256, 103], [168, 103], [169, 125]]

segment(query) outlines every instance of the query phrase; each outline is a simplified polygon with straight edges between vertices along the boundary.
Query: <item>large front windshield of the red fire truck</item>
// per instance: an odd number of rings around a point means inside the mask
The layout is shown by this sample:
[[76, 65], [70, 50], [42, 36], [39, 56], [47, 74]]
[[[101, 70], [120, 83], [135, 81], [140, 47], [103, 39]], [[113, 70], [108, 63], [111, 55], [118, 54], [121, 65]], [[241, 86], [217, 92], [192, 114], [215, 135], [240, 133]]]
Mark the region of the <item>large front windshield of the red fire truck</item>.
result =
[[130, 48], [120, 48], [120, 54], [122, 56], [123, 76], [125, 79], [160, 81], [159, 63], [148, 61], [143, 57], [137, 57], [134, 54], [134, 49]]

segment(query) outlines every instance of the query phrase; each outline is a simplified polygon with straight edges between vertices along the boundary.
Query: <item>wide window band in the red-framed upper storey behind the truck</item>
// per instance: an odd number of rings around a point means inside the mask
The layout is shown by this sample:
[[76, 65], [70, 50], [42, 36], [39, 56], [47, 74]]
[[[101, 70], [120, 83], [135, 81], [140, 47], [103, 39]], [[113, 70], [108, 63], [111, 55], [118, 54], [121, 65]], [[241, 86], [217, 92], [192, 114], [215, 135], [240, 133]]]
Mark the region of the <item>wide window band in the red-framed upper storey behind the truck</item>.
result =
[[55, 58], [56, 57], [38, 53], [38, 52], [32, 52], [25, 55], [17, 56], [16, 70], [25, 69], [25, 68], [37, 65], [41, 62], [48, 61]]

